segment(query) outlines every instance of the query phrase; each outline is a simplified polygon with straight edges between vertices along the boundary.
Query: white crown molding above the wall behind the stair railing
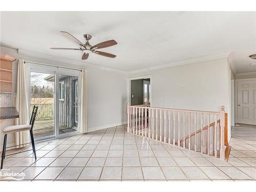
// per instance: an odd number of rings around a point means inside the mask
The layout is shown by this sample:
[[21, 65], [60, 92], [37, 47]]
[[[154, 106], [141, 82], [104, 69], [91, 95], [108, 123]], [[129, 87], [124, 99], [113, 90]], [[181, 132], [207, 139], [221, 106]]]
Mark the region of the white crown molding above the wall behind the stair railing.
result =
[[194, 59], [187, 59], [187, 60], [178, 61], [178, 62], [172, 62], [172, 63], [168, 63], [166, 65], [160, 65], [160, 66], [155, 66], [155, 67], [130, 71], [130, 72], [128, 72], [128, 74], [142, 73], [142, 72], [148, 72], [148, 71], [153, 71], [153, 70], [158, 70], [158, 69], [164, 69], [164, 68], [170, 68], [170, 67], [175, 67], [175, 66], [187, 65], [187, 64], [195, 63], [195, 62], [202, 62], [202, 61], [207, 61], [207, 60], [225, 58], [229, 55], [229, 53], [230, 52], [226, 52], [226, 53], [220, 53], [220, 54], [209, 55], [209, 56], [204, 56], [204, 57], [198, 57], [198, 58], [194, 58]]

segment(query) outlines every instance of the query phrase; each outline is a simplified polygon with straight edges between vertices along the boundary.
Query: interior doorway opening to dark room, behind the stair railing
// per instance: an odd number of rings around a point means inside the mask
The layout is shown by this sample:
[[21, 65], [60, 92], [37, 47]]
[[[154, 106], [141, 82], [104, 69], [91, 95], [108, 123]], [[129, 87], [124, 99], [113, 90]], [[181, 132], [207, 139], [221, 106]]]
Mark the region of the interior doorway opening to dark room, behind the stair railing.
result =
[[141, 78], [131, 80], [131, 105], [150, 104], [151, 79]]

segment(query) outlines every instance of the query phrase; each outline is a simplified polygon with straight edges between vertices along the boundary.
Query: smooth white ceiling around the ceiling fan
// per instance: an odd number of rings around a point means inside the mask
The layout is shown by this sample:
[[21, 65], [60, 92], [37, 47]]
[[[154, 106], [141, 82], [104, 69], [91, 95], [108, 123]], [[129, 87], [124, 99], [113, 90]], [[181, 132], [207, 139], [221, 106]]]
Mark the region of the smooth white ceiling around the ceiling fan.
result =
[[232, 51], [235, 73], [256, 71], [247, 57], [256, 52], [255, 12], [1, 12], [2, 46], [81, 61], [80, 51], [49, 49], [78, 48], [59, 31], [82, 42], [89, 33], [92, 45], [115, 39], [101, 50], [116, 58], [83, 61], [97, 66], [134, 71]]

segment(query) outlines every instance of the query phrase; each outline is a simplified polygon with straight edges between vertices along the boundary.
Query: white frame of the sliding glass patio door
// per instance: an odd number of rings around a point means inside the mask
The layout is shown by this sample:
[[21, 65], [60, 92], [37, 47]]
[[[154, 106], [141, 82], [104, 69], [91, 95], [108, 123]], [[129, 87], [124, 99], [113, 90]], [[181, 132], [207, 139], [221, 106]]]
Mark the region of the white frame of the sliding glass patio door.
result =
[[[77, 131], [75, 132], [70, 132], [70, 133], [63, 133], [59, 134], [59, 102], [58, 101], [58, 93], [59, 93], [59, 79], [57, 78], [59, 74], [61, 75], [71, 75], [71, 76], [77, 76], [79, 75], [78, 71], [74, 70], [69, 70], [69, 69], [56, 69], [56, 67], [51, 67], [51, 66], [42, 66], [38, 65], [36, 63], [31, 63], [28, 62], [28, 74], [27, 74], [27, 93], [28, 93], [28, 103], [30, 104], [30, 73], [31, 72], [36, 72], [36, 73], [48, 73], [48, 74], [54, 74], [55, 75], [55, 82], [54, 82], [54, 129], [55, 129], [55, 134], [50, 135], [50, 136], [45, 136], [45, 137], [40, 137], [40, 138], [35, 138], [35, 141], [41, 141], [41, 140], [48, 140], [48, 139], [53, 139], [53, 138], [64, 138], [64, 137], [70, 137], [73, 135], [78, 135], [81, 134], [81, 130], [79, 127], [77, 127]], [[78, 84], [79, 86], [79, 84]], [[79, 106], [78, 106], [79, 107]], [[29, 108], [29, 114], [30, 114], [30, 108]]]

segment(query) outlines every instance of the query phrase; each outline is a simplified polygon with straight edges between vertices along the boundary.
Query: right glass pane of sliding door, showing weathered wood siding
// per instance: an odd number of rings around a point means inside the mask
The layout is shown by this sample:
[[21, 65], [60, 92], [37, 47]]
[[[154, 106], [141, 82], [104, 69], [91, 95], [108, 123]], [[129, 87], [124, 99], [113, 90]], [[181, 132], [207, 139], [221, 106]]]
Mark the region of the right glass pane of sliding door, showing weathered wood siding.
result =
[[78, 123], [78, 77], [58, 75], [58, 134], [77, 131]]

